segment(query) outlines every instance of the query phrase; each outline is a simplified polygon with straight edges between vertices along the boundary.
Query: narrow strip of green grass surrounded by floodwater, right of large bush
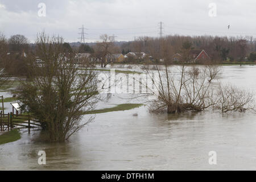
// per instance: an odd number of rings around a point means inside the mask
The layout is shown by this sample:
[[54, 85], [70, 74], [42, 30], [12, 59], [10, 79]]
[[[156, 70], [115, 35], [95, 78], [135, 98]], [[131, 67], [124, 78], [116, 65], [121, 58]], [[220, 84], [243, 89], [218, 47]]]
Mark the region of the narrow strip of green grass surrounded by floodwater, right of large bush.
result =
[[130, 110], [130, 109], [140, 107], [142, 105], [143, 104], [119, 104], [115, 107], [86, 111], [84, 114], [100, 114], [100, 113], [108, 113], [113, 111]]

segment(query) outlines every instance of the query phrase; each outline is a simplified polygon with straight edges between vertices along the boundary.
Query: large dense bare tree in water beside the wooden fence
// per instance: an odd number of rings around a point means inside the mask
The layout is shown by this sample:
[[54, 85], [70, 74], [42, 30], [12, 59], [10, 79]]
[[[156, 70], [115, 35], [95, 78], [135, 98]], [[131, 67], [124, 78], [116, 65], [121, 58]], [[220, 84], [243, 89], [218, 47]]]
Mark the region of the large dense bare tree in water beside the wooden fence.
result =
[[[35, 63], [36, 56], [42, 64]], [[96, 73], [87, 68], [93, 65], [76, 64], [75, 53], [65, 52], [60, 37], [40, 34], [36, 56], [28, 55], [33, 77], [22, 82], [19, 98], [23, 109], [44, 123], [49, 140], [62, 142], [93, 119], [84, 121], [82, 114], [96, 104]]]

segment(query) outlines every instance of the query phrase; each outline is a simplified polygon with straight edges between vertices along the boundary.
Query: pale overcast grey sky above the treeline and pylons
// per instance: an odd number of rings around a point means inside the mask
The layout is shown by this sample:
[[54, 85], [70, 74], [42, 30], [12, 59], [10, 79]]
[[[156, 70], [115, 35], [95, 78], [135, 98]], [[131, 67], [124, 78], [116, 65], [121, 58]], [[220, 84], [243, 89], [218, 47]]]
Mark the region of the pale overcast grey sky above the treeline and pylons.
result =
[[[45, 17], [38, 16], [39, 3], [46, 5]], [[209, 16], [210, 3], [216, 4], [216, 16]], [[159, 36], [162, 21], [164, 35], [256, 36], [255, 7], [255, 0], [0, 0], [0, 32], [34, 42], [45, 30], [77, 42], [84, 24], [86, 42], [101, 34], [127, 41]]]

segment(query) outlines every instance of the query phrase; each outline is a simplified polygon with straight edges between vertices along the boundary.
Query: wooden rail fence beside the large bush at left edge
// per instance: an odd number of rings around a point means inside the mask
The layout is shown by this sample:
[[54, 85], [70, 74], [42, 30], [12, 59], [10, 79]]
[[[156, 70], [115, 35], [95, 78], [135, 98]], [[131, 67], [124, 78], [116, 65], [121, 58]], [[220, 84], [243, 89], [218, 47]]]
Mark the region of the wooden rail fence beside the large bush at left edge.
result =
[[30, 133], [31, 128], [39, 127], [40, 122], [36, 121], [34, 117], [26, 114], [3, 114], [0, 112], [0, 131], [10, 131], [15, 128], [28, 129]]

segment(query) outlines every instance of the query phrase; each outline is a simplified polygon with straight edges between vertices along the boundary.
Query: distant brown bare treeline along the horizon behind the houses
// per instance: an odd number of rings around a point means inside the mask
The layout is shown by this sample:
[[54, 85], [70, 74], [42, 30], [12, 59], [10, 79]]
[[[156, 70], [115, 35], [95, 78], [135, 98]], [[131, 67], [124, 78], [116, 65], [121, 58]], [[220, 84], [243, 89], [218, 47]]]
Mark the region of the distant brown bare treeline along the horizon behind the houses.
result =
[[[204, 49], [212, 60], [224, 62], [256, 60], [256, 38], [253, 36], [169, 35], [162, 39], [143, 36], [130, 42], [115, 42], [110, 39], [111, 36], [107, 35], [101, 38], [97, 43], [77, 43], [78, 46], [74, 46], [73, 43], [63, 43], [63, 50], [73, 53], [90, 53], [100, 59], [103, 64], [107, 55], [114, 53], [126, 55], [129, 52], [145, 52], [149, 56], [161, 59], [161, 55], [157, 54], [162, 51], [162, 55], [166, 54], [168, 55], [166, 57], [171, 59], [171, 55], [180, 53], [183, 44], [189, 42], [192, 45], [191, 49]], [[31, 44], [24, 35], [13, 35], [8, 39], [0, 33], [0, 64], [1, 67], [5, 67], [7, 73], [27, 75], [24, 60], [31, 52], [35, 52], [35, 44]]]

